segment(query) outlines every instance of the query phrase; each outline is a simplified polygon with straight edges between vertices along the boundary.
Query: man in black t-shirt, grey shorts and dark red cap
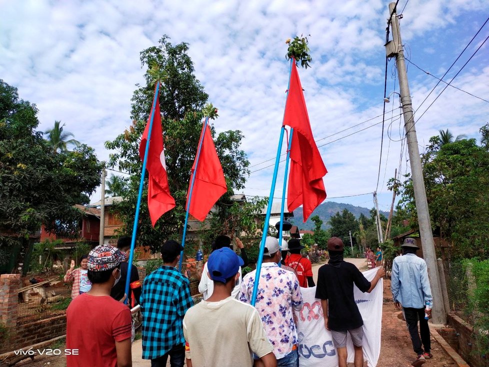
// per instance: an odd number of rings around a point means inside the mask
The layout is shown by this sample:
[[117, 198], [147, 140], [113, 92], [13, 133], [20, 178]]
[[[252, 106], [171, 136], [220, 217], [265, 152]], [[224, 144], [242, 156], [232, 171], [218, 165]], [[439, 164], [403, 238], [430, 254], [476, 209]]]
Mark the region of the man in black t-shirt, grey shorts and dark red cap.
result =
[[353, 284], [362, 292], [370, 293], [385, 275], [380, 266], [372, 281], [368, 281], [358, 268], [343, 260], [343, 241], [331, 237], [327, 241], [329, 261], [319, 268], [316, 298], [321, 299], [324, 326], [331, 330], [338, 351], [338, 366], [346, 367], [346, 332], [351, 336], [355, 350], [355, 367], [363, 366], [363, 320], [355, 303]]

